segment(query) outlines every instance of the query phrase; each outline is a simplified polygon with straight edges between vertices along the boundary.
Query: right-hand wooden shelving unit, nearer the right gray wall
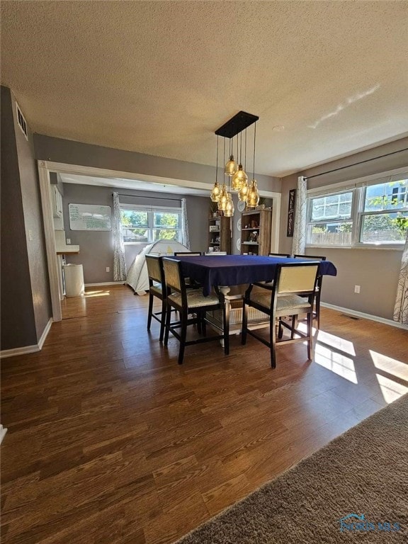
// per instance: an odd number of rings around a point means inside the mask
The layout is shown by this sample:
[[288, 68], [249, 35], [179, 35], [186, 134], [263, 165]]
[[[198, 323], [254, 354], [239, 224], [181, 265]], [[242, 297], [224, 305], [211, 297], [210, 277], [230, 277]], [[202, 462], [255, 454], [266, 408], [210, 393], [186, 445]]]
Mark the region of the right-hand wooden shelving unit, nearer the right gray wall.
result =
[[272, 210], [242, 212], [241, 254], [268, 255], [271, 251]]

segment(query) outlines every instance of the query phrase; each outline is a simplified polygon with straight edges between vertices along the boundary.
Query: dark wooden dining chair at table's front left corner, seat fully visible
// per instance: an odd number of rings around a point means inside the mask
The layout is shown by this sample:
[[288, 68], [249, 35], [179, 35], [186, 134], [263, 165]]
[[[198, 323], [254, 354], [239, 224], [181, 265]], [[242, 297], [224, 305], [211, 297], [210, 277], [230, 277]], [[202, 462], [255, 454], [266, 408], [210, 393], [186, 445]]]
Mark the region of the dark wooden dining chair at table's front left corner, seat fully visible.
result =
[[[177, 340], [179, 340], [179, 365], [183, 363], [184, 348], [186, 346], [191, 346], [192, 344], [200, 344], [202, 342], [209, 342], [213, 340], [223, 340], [224, 353], [225, 355], [228, 355], [229, 316], [223, 295], [220, 294], [220, 297], [218, 297], [217, 295], [211, 294], [208, 295], [208, 297], [205, 297], [201, 289], [187, 289], [183, 274], [181, 273], [181, 263], [176, 259], [163, 257], [163, 268], [166, 288], [169, 291], [171, 290], [171, 294], [167, 295], [166, 298], [167, 313], [164, 346], [167, 346], [169, 342], [170, 333], [173, 334]], [[170, 315], [172, 308], [179, 312], [180, 320], [177, 322], [171, 322]], [[205, 323], [207, 322], [205, 312], [211, 312], [212, 310], [222, 310], [222, 327], [218, 327], [212, 323], [211, 326], [220, 331], [220, 334], [205, 336]], [[193, 340], [187, 340], [187, 327], [193, 324], [198, 326], [198, 332], [200, 332], [201, 327], [203, 336]], [[178, 329], [180, 329], [180, 331]]]

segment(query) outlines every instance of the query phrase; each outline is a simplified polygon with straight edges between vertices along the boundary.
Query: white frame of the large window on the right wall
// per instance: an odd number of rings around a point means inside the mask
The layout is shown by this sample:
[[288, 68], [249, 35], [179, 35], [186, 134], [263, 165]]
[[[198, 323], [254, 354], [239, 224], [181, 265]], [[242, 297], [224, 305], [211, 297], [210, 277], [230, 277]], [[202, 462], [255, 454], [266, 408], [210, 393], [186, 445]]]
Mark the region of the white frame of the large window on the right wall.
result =
[[[408, 179], [408, 169], [400, 169], [396, 171], [390, 171], [388, 173], [383, 173], [381, 176], [370, 176], [370, 179], [358, 183], [356, 180], [355, 183], [351, 184], [350, 181], [345, 183], [336, 183], [333, 186], [325, 186], [321, 188], [314, 188], [310, 191], [307, 191], [307, 215], [306, 215], [306, 232], [307, 232], [307, 242], [306, 247], [329, 247], [336, 249], [403, 249], [404, 240], [397, 242], [361, 242], [361, 229], [363, 227], [363, 217], [373, 216], [373, 215], [384, 215], [391, 214], [395, 212], [408, 212], [408, 206], [404, 208], [389, 209], [389, 210], [371, 210], [365, 211], [365, 193], [369, 186], [382, 185], [383, 183], [392, 183], [394, 181], [400, 181], [403, 179]], [[330, 222], [330, 220], [319, 220], [312, 221], [311, 212], [312, 212], [312, 200], [315, 198], [323, 198], [326, 196], [339, 195], [341, 193], [352, 193], [351, 201], [351, 217], [349, 220], [336, 220], [333, 222], [352, 222], [351, 227], [351, 243], [350, 244], [328, 244], [322, 243], [312, 243], [309, 242], [310, 239], [310, 227], [313, 225], [319, 225], [322, 223]]]

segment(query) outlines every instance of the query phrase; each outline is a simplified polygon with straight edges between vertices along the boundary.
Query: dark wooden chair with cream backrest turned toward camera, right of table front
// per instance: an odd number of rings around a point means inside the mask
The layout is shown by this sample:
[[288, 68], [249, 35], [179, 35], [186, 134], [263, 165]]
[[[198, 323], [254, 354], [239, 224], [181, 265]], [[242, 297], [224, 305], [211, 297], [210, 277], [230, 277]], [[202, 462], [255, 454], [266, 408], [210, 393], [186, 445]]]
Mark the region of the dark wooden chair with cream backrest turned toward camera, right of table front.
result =
[[[244, 310], [242, 312], [242, 344], [246, 344], [249, 334], [259, 340], [271, 351], [271, 367], [276, 368], [276, 346], [293, 342], [304, 342], [307, 339], [307, 357], [312, 358], [312, 319], [314, 293], [317, 282], [319, 265], [317, 263], [279, 263], [276, 266], [272, 285], [251, 283], [244, 295]], [[257, 289], [254, 290], [254, 285]], [[253, 307], [269, 316], [269, 337], [261, 336], [258, 330], [248, 327], [248, 308]], [[304, 333], [293, 329], [293, 324], [280, 320], [288, 315], [307, 315], [307, 331]], [[290, 339], [279, 338], [276, 332], [276, 322], [279, 327], [290, 330]], [[294, 335], [299, 336], [294, 338]]]

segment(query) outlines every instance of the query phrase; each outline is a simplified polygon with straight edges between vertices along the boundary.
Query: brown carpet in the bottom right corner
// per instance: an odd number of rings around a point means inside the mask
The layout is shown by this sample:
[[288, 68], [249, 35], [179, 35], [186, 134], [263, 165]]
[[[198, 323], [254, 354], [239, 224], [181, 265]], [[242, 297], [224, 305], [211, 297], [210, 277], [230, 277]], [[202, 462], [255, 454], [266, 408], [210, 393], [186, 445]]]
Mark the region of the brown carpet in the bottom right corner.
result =
[[408, 395], [178, 544], [356, 542], [408, 542]]

